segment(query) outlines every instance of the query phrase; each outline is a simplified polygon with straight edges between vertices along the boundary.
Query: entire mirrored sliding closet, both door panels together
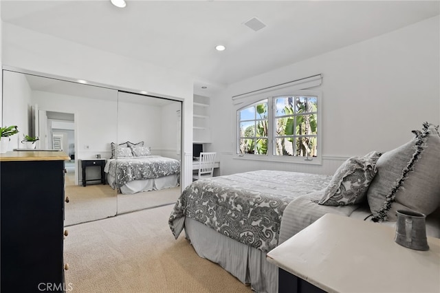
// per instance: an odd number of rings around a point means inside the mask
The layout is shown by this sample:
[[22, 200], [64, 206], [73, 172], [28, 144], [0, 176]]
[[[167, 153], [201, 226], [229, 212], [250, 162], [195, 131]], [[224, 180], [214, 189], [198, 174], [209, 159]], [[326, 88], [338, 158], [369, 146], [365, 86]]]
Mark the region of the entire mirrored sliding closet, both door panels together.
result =
[[61, 149], [65, 226], [173, 204], [181, 193], [181, 102], [3, 70], [3, 126], [10, 150]]

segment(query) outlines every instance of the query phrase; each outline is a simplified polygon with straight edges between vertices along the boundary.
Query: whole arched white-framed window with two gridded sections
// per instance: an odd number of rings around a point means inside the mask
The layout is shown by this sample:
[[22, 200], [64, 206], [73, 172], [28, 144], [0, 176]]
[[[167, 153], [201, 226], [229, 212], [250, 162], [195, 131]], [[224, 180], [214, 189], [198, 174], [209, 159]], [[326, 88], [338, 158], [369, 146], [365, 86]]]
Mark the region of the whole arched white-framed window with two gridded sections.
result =
[[237, 110], [236, 154], [256, 160], [319, 164], [319, 99], [320, 95], [308, 92], [272, 96], [241, 107]]

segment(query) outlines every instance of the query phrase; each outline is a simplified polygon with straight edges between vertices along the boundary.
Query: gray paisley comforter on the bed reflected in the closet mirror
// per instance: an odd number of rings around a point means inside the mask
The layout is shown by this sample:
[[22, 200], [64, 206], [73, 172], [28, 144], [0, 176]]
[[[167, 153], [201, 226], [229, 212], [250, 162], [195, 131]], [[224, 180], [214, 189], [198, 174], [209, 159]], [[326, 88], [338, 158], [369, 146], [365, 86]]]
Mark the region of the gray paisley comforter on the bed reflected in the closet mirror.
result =
[[127, 182], [137, 179], [159, 178], [180, 173], [178, 160], [160, 155], [109, 160], [108, 163], [105, 171], [115, 177], [112, 188], [120, 188]]

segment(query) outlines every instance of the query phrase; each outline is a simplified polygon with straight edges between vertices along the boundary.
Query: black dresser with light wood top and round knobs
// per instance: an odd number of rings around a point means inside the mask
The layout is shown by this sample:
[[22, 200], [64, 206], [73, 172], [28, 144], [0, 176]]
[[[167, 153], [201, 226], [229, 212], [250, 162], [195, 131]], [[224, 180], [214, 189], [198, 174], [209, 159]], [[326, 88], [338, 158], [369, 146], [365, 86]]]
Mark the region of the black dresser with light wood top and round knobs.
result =
[[0, 154], [1, 292], [63, 292], [61, 151]]

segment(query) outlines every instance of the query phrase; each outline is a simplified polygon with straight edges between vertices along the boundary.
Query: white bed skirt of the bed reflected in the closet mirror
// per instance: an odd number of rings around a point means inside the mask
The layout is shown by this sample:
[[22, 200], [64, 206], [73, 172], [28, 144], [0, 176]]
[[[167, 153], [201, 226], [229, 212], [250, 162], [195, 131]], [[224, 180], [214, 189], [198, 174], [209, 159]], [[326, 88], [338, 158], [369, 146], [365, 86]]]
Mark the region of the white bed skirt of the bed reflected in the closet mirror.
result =
[[[112, 186], [113, 182], [115, 182], [115, 177], [107, 173], [107, 181]], [[179, 186], [179, 174], [154, 179], [133, 180], [121, 186], [120, 191], [124, 195], [132, 195], [143, 191], [159, 191], [176, 186]]]

